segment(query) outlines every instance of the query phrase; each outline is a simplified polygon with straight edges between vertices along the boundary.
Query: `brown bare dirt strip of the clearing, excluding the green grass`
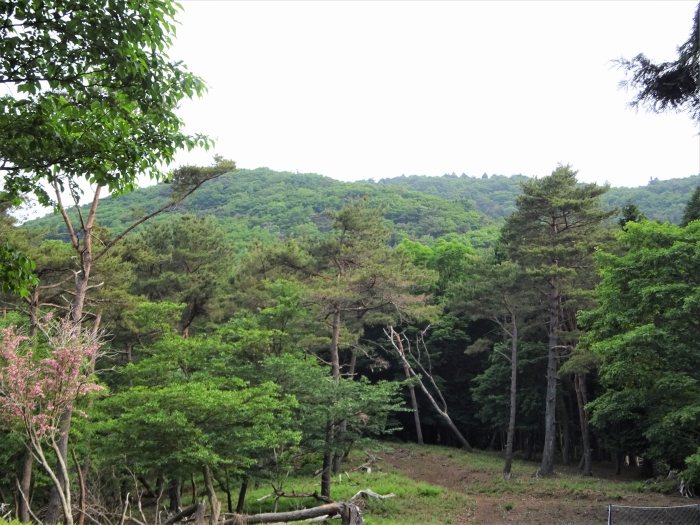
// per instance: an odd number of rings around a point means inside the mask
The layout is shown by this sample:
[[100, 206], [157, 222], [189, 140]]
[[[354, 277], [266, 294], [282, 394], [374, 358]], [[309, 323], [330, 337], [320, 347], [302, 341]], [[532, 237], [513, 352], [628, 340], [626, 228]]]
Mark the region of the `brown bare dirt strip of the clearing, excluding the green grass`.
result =
[[[547, 487], [526, 491], [513, 491], [499, 494], [491, 489], [500, 477], [493, 472], [472, 471], [463, 463], [452, 460], [442, 452], [422, 453], [415, 448], [397, 447], [382, 455], [391, 467], [417, 481], [425, 481], [450, 490], [460, 491], [474, 498], [476, 508], [460, 516], [453, 525], [467, 524], [547, 524], [547, 525], [600, 525], [607, 523], [608, 504], [629, 506], [673, 506], [697, 503], [697, 500], [683, 499], [658, 493], [630, 491], [629, 486], [620, 483], [621, 490], [615, 494], [601, 491], [590, 492], [571, 489], [570, 484], [547, 483]], [[532, 464], [532, 473], [537, 464]], [[571, 479], [574, 469], [560, 467], [562, 476]], [[599, 466], [594, 474], [599, 478], [619, 481], [634, 479], [633, 473], [616, 476], [609, 467]], [[575, 479], [575, 478], [574, 478]], [[619, 481], [618, 481], [619, 480]], [[605, 484], [609, 487], [609, 484]], [[491, 492], [491, 493], [489, 493]], [[518, 493], [520, 492], [520, 493]]]

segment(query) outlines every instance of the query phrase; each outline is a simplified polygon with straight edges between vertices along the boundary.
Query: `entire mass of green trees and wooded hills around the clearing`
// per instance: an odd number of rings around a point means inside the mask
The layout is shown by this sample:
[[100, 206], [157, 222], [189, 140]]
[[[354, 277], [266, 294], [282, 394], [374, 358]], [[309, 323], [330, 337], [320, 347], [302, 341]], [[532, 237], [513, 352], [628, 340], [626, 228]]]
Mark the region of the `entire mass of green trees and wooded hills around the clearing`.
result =
[[[361, 524], [334, 484], [387, 437], [502, 451], [504, 483], [518, 454], [533, 483], [627, 460], [695, 493], [700, 175], [342, 183], [217, 156], [166, 176], [178, 149], [209, 144], [174, 113], [204, 89], [165, 54], [176, 10], [0, 11], [0, 81], [16, 87], [0, 97], [8, 516], [279, 521], [251, 516], [249, 489], [272, 486], [276, 510], [303, 472], [326, 515]], [[693, 46], [665, 69], [696, 71]], [[634, 82], [656, 85], [645, 60]], [[659, 107], [696, 116], [694, 93]], [[139, 174], [163, 182], [131, 191]], [[56, 214], [19, 226], [32, 195]]]

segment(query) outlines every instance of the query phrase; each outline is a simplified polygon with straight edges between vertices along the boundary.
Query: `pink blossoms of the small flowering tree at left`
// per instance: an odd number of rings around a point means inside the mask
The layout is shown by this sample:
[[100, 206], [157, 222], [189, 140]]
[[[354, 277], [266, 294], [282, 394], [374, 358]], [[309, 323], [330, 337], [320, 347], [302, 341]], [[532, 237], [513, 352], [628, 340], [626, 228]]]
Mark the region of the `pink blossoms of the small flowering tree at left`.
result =
[[68, 321], [47, 330], [49, 356], [37, 358], [13, 327], [0, 340], [0, 424], [34, 439], [54, 437], [61, 415], [100, 390], [92, 378], [98, 338]]

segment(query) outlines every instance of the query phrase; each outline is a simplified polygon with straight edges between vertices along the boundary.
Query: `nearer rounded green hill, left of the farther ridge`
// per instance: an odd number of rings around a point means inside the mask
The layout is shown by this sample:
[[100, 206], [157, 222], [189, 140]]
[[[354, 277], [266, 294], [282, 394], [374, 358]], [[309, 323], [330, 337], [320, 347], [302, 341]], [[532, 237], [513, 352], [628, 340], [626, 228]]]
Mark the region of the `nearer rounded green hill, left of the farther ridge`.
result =
[[[120, 231], [145, 213], [162, 206], [170, 187], [141, 188], [100, 203], [98, 222]], [[340, 182], [316, 174], [275, 172], [267, 168], [239, 170], [206, 183], [190, 196], [178, 213], [213, 215], [231, 235], [291, 237], [314, 235], [330, 228], [328, 210], [354, 199], [367, 199], [384, 211], [397, 237], [439, 237], [468, 233], [491, 221], [465, 200], [447, 200], [407, 187], [387, 188], [371, 182]], [[47, 216], [30, 227], [60, 228]]]

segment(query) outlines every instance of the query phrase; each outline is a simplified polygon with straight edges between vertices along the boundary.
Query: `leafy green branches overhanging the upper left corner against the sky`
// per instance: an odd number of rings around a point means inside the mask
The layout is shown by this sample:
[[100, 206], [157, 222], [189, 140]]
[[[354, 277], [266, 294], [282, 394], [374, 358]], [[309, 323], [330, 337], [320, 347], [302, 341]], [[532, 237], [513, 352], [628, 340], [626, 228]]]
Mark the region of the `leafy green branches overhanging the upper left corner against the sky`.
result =
[[78, 181], [132, 190], [182, 147], [182, 98], [204, 83], [166, 50], [177, 4], [31, 2], [0, 11], [0, 158], [5, 190], [50, 198], [43, 183], [79, 193]]

